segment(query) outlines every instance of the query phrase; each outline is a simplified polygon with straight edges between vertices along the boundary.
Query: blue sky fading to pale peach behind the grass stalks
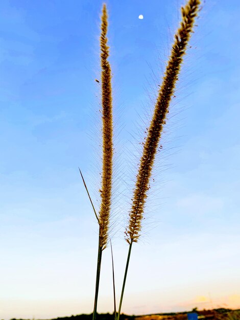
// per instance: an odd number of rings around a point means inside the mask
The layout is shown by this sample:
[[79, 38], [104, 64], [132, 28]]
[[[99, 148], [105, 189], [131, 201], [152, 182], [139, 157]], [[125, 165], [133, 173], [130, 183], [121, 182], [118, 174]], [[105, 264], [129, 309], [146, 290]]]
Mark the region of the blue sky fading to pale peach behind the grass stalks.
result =
[[[139, 143], [180, 0], [106, 1], [114, 108], [112, 240], [119, 301]], [[0, 5], [0, 319], [93, 310], [101, 173], [103, 2]], [[139, 19], [143, 15], [143, 19]], [[155, 161], [122, 312], [240, 308], [240, 6], [207, 0]], [[98, 312], [113, 312], [103, 252]]]

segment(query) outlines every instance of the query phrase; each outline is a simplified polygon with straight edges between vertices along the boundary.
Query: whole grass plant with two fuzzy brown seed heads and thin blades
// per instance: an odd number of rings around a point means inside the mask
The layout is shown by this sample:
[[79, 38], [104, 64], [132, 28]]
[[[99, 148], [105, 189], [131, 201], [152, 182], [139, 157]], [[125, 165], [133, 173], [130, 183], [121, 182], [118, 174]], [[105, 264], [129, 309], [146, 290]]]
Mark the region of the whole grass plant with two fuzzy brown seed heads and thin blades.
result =
[[[162, 83], [158, 90], [157, 101], [153, 112], [153, 117], [147, 129], [147, 136], [143, 144], [143, 151], [139, 162], [139, 169], [136, 176], [136, 183], [133, 190], [132, 206], [129, 213], [129, 225], [125, 231], [125, 239], [129, 244], [128, 257], [125, 268], [124, 281], [122, 286], [121, 298], [119, 301], [118, 312], [116, 314], [114, 268], [113, 269], [113, 294], [114, 294], [114, 315], [115, 320], [119, 320], [123, 303], [123, 295], [126, 284], [127, 272], [131, 256], [133, 242], [137, 242], [141, 231], [141, 220], [150, 188], [150, 177], [154, 165], [155, 156], [161, 139], [163, 126], [166, 123], [166, 116], [169, 112], [169, 105], [174, 94], [176, 82], [178, 80], [183, 56], [186, 53], [187, 44], [193, 33], [194, 22], [200, 9], [200, 0], [188, 0], [186, 5], [181, 8], [182, 20], [175, 34], [175, 40], [172, 46], [171, 55], [166, 65], [166, 70], [162, 78]], [[113, 120], [112, 120], [112, 90], [111, 90], [111, 68], [108, 62], [109, 47], [107, 45], [108, 14], [106, 4], [103, 4], [101, 17], [101, 93], [102, 93], [102, 136], [103, 136], [103, 164], [101, 181], [101, 204], [99, 214], [94, 209], [90, 195], [88, 193], [83, 175], [84, 186], [90, 199], [93, 211], [99, 224], [99, 247], [97, 275], [95, 284], [95, 298], [92, 318], [97, 316], [97, 304], [100, 282], [100, 270], [102, 261], [102, 252], [107, 246], [109, 217], [111, 209], [112, 196], [112, 165], [113, 165]], [[98, 81], [98, 80], [97, 80]], [[98, 81], [99, 82], [99, 81]], [[111, 247], [112, 253], [112, 247]]]

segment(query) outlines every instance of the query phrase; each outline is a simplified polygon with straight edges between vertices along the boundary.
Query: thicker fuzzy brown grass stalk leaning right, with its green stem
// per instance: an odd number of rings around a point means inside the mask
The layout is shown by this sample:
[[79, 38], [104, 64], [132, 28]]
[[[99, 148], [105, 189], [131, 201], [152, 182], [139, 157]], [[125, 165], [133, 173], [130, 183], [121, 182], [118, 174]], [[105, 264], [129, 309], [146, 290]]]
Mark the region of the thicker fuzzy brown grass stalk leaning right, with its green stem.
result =
[[171, 55], [167, 62], [166, 70], [162, 79], [162, 84], [158, 91], [158, 98], [151, 120], [148, 135], [143, 145], [143, 152], [139, 163], [136, 184], [133, 192], [132, 208], [129, 213], [129, 226], [126, 230], [126, 240], [129, 243], [129, 252], [125, 268], [124, 282], [122, 287], [121, 299], [119, 302], [117, 320], [121, 313], [125, 283], [127, 278], [129, 259], [133, 242], [137, 242], [141, 230], [141, 220], [145, 206], [147, 191], [149, 189], [150, 176], [157, 152], [159, 140], [166, 115], [169, 112], [169, 105], [174, 93], [175, 85], [178, 80], [183, 56], [186, 52], [187, 43], [193, 32], [194, 21], [198, 14], [200, 0], [188, 0], [187, 4], [181, 8], [182, 20], [175, 34]]

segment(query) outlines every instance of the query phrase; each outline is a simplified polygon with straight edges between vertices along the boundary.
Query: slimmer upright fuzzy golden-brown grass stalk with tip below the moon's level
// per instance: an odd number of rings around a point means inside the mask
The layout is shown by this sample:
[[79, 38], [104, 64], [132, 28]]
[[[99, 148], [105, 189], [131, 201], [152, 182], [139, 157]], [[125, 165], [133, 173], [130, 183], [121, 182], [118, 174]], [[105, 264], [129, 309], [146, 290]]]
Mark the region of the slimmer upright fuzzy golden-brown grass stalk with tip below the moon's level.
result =
[[112, 190], [112, 158], [113, 158], [113, 121], [112, 121], [112, 89], [111, 89], [111, 68], [108, 62], [109, 47], [107, 45], [107, 7], [103, 4], [101, 17], [101, 92], [102, 92], [102, 121], [103, 121], [103, 167], [102, 167], [102, 182], [101, 182], [101, 205], [98, 217], [99, 223], [99, 249], [97, 262], [97, 275], [95, 285], [95, 298], [92, 319], [97, 316], [98, 293], [100, 282], [100, 271], [102, 252], [107, 246], [108, 227], [111, 205], [111, 190]]

